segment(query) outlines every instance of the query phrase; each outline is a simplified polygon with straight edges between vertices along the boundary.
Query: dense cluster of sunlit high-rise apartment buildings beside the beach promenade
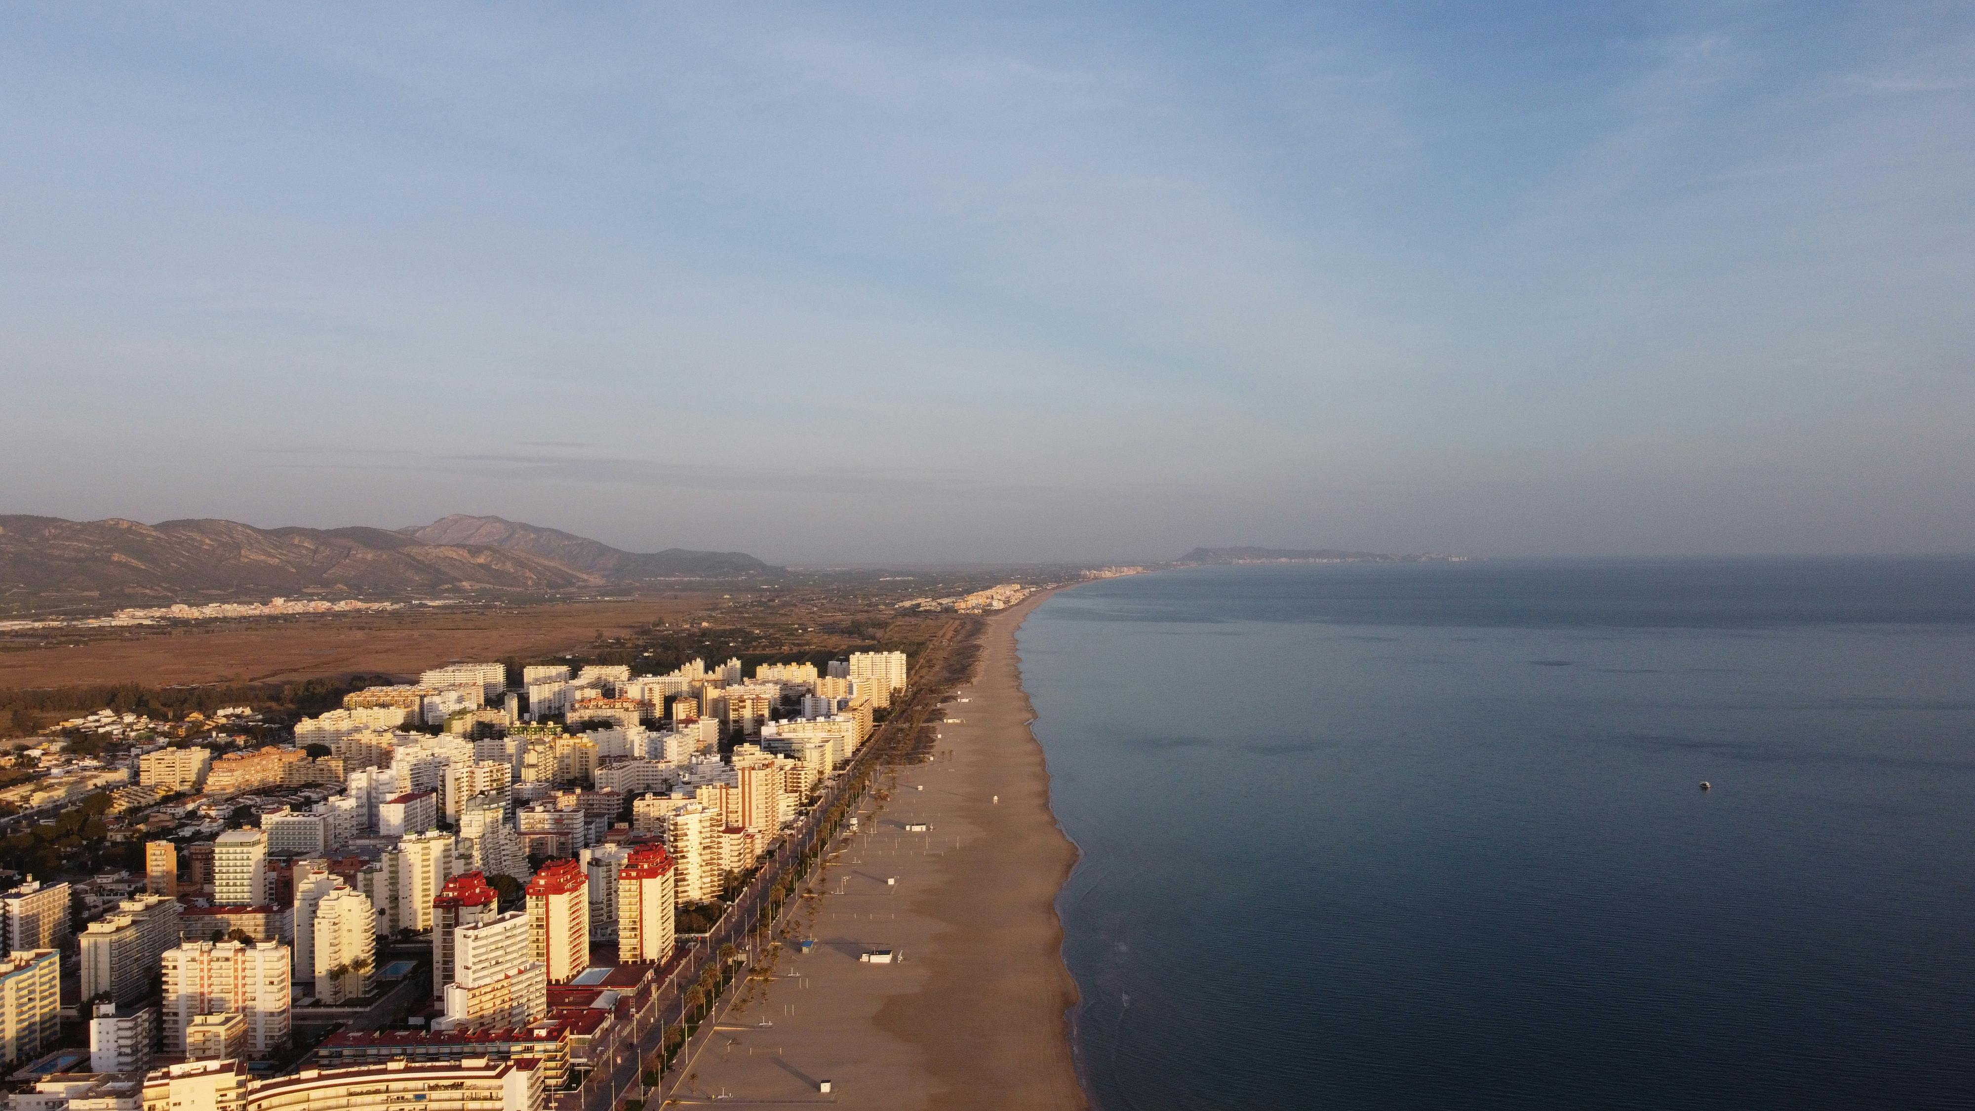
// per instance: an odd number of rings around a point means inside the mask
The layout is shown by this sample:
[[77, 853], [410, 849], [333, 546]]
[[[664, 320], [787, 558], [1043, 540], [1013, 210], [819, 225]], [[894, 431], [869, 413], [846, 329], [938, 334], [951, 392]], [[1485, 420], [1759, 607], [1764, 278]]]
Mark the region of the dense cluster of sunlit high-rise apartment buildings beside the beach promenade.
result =
[[[292, 743], [134, 753], [118, 771], [138, 787], [190, 797], [144, 818], [164, 836], [142, 888], [0, 894], [0, 1060], [57, 1048], [71, 969], [89, 1028], [89, 1071], [49, 1071], [12, 1107], [541, 1111], [632, 1036], [679, 909], [721, 909], [907, 660], [519, 680], [436, 668], [352, 692]], [[75, 905], [93, 921], [71, 935]], [[431, 990], [407, 1000], [415, 965]], [[389, 1006], [296, 1060], [298, 1024]], [[405, 1008], [417, 1028], [393, 1026]]]

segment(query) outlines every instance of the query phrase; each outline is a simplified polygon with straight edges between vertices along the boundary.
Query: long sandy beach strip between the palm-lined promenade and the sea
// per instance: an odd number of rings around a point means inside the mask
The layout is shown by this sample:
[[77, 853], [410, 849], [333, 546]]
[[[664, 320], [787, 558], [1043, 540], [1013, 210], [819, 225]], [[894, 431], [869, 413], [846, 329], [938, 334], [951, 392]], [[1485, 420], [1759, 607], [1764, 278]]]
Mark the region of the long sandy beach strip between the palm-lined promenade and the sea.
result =
[[[721, 1018], [675, 1099], [1086, 1107], [1055, 909], [1076, 850], [1049, 811], [1015, 658], [1041, 601], [986, 621], [936, 757], [881, 777], [889, 801], [804, 899], [794, 923], [816, 945], [786, 949]], [[897, 963], [863, 959], [887, 949]]]

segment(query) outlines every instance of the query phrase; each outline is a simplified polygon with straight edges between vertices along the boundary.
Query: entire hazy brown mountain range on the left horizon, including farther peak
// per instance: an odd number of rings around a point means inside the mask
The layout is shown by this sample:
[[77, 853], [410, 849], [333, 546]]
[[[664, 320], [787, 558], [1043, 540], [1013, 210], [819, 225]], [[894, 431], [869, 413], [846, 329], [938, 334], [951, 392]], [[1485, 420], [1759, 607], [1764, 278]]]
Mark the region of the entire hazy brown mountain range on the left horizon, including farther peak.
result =
[[770, 571], [739, 552], [620, 552], [553, 528], [448, 516], [425, 528], [253, 528], [231, 520], [0, 516], [0, 593], [182, 599], [245, 593], [565, 589]]

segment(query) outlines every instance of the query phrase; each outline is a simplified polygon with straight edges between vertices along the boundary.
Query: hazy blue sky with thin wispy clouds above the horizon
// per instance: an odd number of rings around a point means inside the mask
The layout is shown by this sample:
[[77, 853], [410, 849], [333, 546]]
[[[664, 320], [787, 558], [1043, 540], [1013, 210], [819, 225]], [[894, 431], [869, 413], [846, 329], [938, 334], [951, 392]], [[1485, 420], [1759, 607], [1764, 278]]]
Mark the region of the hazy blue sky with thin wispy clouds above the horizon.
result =
[[0, 512], [1975, 552], [1975, 4], [0, 6]]

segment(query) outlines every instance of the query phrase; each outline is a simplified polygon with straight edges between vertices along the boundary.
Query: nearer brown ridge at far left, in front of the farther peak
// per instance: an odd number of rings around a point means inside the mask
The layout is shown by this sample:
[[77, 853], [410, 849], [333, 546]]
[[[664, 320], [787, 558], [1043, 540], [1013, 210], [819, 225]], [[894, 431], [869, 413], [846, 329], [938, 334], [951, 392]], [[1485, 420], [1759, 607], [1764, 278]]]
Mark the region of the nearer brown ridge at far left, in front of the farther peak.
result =
[[180, 599], [308, 589], [559, 589], [596, 575], [500, 548], [421, 544], [381, 528], [253, 528], [231, 520], [75, 522], [0, 516], [0, 591]]

